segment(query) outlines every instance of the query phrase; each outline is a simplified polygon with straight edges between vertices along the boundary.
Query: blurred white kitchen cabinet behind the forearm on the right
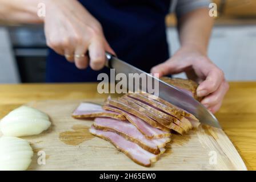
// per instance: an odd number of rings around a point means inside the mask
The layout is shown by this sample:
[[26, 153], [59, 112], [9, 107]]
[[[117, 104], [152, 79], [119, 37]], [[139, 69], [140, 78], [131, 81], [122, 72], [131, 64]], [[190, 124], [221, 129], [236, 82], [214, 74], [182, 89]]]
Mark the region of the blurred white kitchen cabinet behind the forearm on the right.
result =
[[[175, 28], [167, 28], [171, 55], [179, 48]], [[210, 59], [221, 68], [229, 81], [256, 80], [256, 25], [214, 27], [210, 46]], [[185, 74], [175, 77], [185, 78]]]

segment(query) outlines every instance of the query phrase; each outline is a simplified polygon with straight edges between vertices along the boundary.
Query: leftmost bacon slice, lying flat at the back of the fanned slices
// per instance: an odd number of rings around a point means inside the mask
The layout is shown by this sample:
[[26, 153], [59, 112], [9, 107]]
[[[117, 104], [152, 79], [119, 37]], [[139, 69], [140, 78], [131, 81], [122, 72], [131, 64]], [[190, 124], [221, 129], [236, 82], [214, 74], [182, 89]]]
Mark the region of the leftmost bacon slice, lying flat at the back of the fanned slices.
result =
[[74, 118], [95, 118], [110, 117], [120, 120], [126, 120], [125, 116], [114, 111], [106, 111], [101, 105], [82, 102], [77, 109], [74, 110], [72, 117]]

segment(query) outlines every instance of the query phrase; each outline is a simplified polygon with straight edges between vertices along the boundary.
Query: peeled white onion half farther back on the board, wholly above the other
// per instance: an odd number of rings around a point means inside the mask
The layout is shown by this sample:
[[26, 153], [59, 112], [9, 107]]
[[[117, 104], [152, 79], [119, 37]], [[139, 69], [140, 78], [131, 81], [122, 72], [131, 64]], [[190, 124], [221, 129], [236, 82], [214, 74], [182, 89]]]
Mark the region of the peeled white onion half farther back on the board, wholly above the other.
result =
[[0, 129], [5, 136], [23, 137], [40, 134], [50, 125], [49, 117], [45, 113], [28, 106], [21, 106], [1, 120]]

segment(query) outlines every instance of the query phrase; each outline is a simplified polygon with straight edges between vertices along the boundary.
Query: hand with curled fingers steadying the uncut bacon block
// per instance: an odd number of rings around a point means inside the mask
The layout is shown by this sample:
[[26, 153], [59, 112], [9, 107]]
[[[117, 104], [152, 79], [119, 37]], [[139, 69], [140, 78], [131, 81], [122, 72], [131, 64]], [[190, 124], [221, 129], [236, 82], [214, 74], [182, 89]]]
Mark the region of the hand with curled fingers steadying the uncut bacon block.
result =
[[224, 73], [202, 52], [191, 47], [182, 47], [173, 57], [151, 69], [159, 77], [186, 72], [191, 80], [197, 81], [197, 96], [206, 96], [201, 103], [212, 113], [219, 110], [229, 90]]

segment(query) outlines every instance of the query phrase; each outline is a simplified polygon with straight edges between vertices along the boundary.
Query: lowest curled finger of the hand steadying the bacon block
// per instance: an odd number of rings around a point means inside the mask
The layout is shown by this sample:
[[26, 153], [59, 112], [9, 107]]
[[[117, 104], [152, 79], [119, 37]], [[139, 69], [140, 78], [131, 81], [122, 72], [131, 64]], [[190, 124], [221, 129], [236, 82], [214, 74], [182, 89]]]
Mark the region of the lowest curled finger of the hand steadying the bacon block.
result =
[[219, 88], [214, 93], [204, 98], [201, 103], [207, 108], [214, 107], [222, 102], [227, 90], [229, 90], [229, 84], [226, 81], [223, 81]]

